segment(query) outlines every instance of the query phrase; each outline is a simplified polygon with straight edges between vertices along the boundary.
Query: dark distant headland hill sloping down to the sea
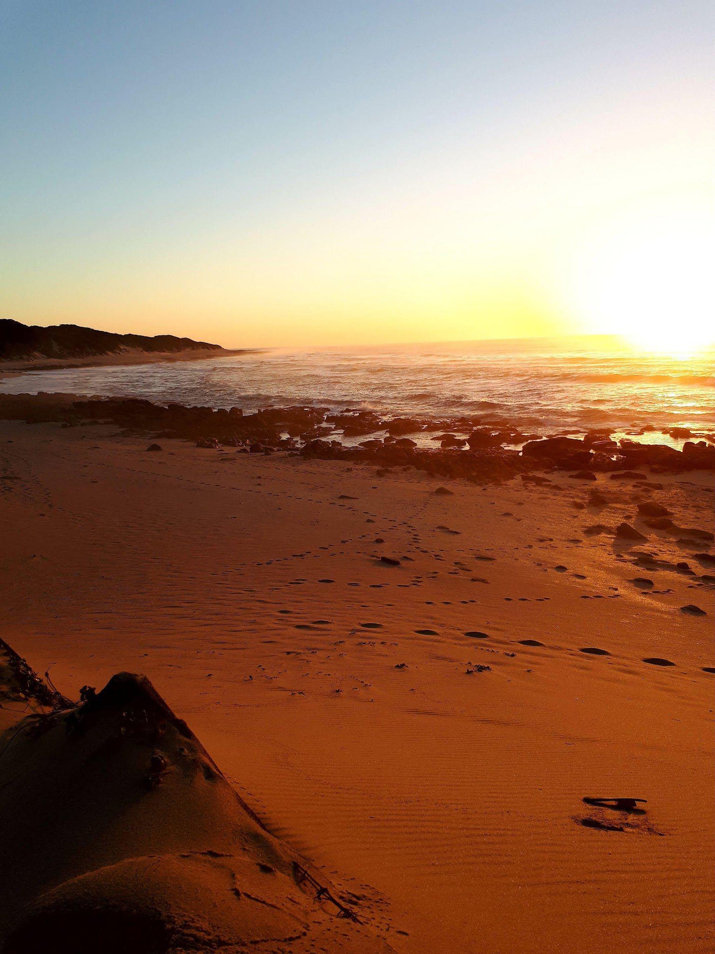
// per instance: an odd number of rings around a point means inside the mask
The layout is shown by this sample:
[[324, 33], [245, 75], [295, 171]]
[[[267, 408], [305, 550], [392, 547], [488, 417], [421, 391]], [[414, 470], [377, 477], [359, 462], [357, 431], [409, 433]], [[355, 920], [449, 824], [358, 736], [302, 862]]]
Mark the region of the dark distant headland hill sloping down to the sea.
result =
[[174, 335], [115, 335], [78, 324], [37, 324], [0, 319], [0, 361], [31, 358], [92, 358], [125, 352], [222, 351], [219, 344]]

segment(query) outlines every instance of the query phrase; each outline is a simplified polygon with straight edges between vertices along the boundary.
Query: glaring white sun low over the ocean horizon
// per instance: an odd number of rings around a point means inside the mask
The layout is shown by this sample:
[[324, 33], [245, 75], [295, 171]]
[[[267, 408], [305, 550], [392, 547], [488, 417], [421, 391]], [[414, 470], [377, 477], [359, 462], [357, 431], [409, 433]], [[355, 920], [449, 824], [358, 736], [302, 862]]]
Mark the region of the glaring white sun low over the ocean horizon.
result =
[[644, 351], [693, 355], [715, 343], [714, 262], [702, 216], [611, 228], [580, 257], [577, 308], [594, 331]]

